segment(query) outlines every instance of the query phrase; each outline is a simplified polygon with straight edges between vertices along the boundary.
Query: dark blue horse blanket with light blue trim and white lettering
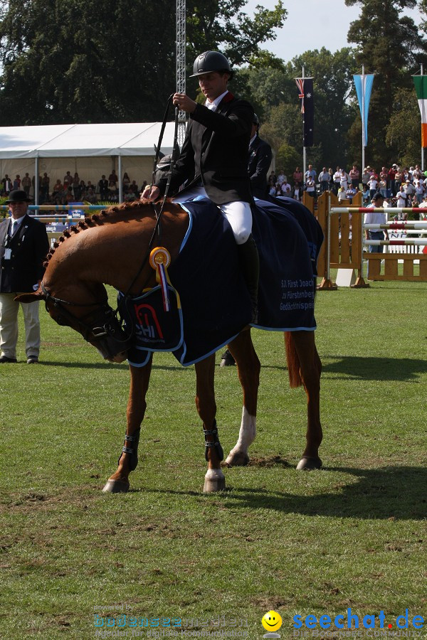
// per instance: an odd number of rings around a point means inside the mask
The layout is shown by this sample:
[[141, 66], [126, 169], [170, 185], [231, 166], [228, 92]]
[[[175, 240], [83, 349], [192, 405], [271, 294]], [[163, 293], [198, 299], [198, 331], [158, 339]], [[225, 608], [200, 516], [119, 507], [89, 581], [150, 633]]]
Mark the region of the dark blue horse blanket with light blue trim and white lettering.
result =
[[[259, 329], [313, 331], [315, 263], [323, 235], [307, 208], [291, 201], [256, 201], [253, 237], [260, 254]], [[210, 201], [181, 204], [189, 227], [179, 257], [169, 267], [171, 311], [164, 311], [160, 287], [128, 300], [123, 316], [133, 326], [128, 351], [144, 366], [151, 351], [172, 351], [189, 366], [218, 351], [251, 321], [251, 299], [238, 265], [228, 222]], [[176, 292], [178, 295], [176, 295]]]

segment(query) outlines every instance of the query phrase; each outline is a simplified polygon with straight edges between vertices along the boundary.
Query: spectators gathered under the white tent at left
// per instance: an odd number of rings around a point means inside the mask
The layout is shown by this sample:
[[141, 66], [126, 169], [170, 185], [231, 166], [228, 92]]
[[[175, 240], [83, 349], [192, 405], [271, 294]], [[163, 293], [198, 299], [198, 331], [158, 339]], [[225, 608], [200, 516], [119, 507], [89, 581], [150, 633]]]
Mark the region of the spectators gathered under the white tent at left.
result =
[[[23, 178], [17, 174], [14, 179], [6, 174], [0, 184], [2, 197], [9, 196], [9, 193], [16, 189], [21, 189], [26, 192], [27, 196], [30, 196], [30, 192], [35, 192], [36, 179], [35, 176], [30, 178], [28, 173]], [[139, 192], [144, 190], [146, 184], [147, 182], [144, 181], [141, 186], [138, 186], [137, 182], [131, 180], [127, 173], [123, 174], [123, 201], [137, 200]], [[115, 169], [112, 169], [108, 178], [102, 174], [96, 184], [93, 184], [90, 180], [83, 180], [77, 172], [72, 176], [70, 171], [66, 172], [62, 181], [58, 178], [53, 183], [45, 171], [43, 176], [38, 176], [38, 203], [52, 205], [66, 205], [81, 201], [91, 204], [96, 204], [97, 202], [115, 203], [119, 201], [118, 185], [119, 176], [117, 176]]]

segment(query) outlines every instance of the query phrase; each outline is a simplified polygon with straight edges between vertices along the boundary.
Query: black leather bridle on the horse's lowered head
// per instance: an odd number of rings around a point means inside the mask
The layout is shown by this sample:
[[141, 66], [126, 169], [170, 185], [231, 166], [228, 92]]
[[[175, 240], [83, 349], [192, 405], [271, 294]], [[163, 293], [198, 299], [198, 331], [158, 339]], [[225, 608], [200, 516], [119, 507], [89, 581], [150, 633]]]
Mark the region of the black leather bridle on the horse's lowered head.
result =
[[[49, 313], [48, 303], [60, 311], [55, 319], [60, 325], [68, 324], [71, 321], [78, 325], [78, 331], [88, 342], [99, 342], [100, 351], [107, 354], [107, 358], [114, 358], [120, 351], [127, 351], [132, 344], [132, 335], [122, 328], [121, 322], [117, 319], [117, 315], [107, 304], [107, 302], [69, 302], [57, 298], [48, 292], [43, 281], [41, 282], [41, 290], [45, 295], [46, 311]], [[96, 306], [93, 311], [78, 318], [68, 311], [67, 306]]]

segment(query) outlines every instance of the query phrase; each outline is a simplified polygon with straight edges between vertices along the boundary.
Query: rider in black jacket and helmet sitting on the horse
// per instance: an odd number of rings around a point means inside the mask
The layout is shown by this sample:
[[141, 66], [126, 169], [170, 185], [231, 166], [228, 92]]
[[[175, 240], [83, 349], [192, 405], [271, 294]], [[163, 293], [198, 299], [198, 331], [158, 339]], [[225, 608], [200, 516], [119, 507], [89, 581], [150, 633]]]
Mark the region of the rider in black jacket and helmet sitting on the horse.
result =
[[[174, 94], [174, 105], [189, 114], [189, 125], [181, 154], [172, 169], [170, 187], [172, 193], [177, 193], [187, 181], [174, 202], [207, 197], [230, 223], [255, 319], [259, 259], [251, 235], [253, 197], [248, 177], [253, 108], [228, 91], [231, 76], [230, 63], [222, 53], [205, 51], [194, 60], [191, 75], [199, 78], [205, 104], [199, 105], [182, 93]], [[142, 193], [142, 200], [157, 200], [166, 186], [167, 176], [159, 178]]]

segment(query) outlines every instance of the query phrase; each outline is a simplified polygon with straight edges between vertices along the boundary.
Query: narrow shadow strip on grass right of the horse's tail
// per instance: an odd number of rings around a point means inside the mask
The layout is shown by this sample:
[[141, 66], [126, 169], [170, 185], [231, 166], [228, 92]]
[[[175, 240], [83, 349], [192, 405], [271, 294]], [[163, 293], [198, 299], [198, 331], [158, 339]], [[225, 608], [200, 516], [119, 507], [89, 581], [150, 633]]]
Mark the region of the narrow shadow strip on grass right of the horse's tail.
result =
[[[407, 382], [427, 373], [427, 361], [415, 358], [371, 358], [369, 356], [324, 356], [334, 362], [323, 362], [322, 374], [337, 373], [357, 380], [390, 380]], [[328, 376], [334, 378], [334, 376]]]

